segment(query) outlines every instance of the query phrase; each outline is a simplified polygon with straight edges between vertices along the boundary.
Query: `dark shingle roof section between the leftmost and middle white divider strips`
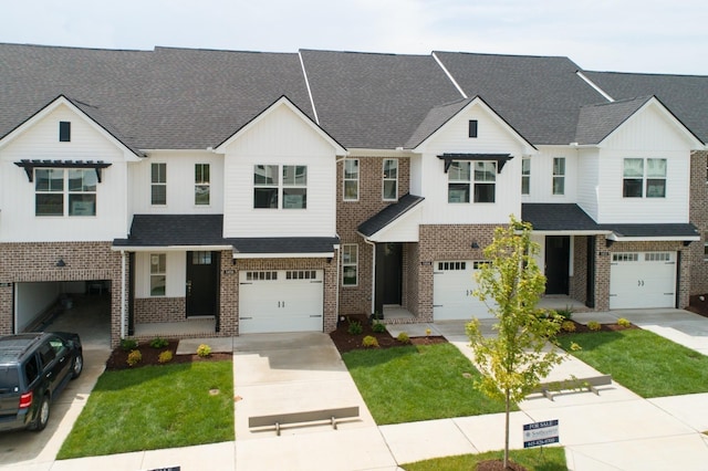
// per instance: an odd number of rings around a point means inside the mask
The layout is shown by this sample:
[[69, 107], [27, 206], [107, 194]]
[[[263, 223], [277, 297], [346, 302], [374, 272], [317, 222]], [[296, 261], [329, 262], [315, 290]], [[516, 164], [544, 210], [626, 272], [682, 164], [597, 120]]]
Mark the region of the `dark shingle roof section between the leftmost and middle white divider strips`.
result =
[[404, 146], [431, 108], [462, 97], [430, 55], [300, 53], [320, 125], [347, 148]]

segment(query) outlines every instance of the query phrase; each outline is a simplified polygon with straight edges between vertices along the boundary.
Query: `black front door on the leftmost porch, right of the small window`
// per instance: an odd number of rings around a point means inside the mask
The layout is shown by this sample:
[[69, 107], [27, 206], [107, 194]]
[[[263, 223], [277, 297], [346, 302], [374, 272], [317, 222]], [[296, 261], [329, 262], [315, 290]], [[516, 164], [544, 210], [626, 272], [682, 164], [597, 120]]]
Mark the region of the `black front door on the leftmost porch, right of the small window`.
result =
[[218, 252], [187, 252], [187, 317], [216, 315]]

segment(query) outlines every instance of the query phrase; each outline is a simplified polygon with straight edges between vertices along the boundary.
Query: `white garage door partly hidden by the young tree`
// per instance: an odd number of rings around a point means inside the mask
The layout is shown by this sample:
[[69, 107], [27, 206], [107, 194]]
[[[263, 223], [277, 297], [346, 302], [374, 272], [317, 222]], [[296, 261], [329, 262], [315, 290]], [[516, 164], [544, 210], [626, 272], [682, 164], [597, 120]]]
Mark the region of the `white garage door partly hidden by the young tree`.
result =
[[[479, 261], [435, 262], [433, 271], [433, 318], [435, 321], [492, 318], [485, 303], [472, 294]], [[488, 301], [491, 303], [491, 301]]]

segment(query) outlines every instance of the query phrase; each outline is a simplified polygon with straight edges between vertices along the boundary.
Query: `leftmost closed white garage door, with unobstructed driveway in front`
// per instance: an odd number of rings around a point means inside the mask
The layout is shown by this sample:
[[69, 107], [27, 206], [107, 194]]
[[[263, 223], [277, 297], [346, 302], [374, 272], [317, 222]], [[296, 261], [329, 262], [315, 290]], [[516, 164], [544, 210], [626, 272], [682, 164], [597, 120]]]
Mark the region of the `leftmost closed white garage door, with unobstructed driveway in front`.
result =
[[322, 332], [322, 270], [242, 271], [239, 333]]

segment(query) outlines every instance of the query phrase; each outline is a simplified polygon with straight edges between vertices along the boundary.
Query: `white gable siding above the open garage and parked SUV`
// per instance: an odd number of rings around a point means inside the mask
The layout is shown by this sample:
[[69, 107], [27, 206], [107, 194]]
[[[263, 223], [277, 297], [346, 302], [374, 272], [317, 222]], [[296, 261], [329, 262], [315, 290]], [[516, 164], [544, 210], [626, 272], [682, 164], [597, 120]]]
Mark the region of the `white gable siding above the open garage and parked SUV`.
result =
[[[59, 142], [59, 122], [71, 122], [71, 142]], [[103, 160], [112, 163], [102, 170], [96, 188], [95, 217], [35, 217], [34, 184], [21, 159]], [[125, 155], [84, 116], [67, 106], [59, 106], [34, 126], [0, 150], [0, 241], [112, 241], [126, 237], [127, 169]], [[64, 201], [66, 205], [66, 201]]]

